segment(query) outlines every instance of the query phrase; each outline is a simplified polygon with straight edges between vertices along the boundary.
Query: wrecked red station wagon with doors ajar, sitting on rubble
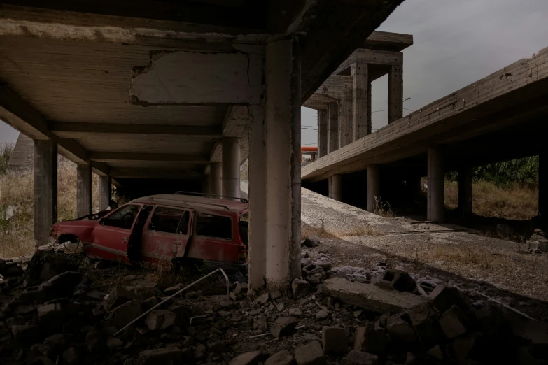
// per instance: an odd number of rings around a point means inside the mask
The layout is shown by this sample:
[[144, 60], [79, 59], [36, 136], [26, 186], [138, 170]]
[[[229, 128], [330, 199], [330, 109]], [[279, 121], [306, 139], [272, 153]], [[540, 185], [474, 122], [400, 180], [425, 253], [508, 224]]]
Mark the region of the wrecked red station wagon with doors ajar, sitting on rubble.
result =
[[201, 259], [244, 269], [248, 201], [191, 194], [144, 196], [106, 214], [55, 223], [50, 236], [79, 240], [89, 257], [125, 264]]

